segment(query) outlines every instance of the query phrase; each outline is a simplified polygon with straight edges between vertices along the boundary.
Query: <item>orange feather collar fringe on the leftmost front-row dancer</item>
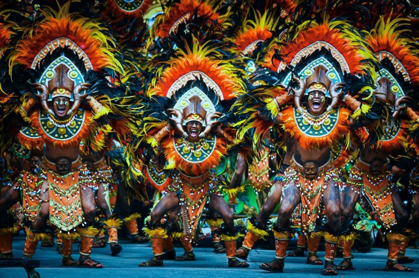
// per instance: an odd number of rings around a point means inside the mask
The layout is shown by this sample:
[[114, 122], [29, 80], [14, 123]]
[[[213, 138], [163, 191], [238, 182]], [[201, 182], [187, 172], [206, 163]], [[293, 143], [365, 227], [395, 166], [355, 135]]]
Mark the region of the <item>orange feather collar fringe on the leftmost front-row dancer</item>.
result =
[[54, 138], [49, 137], [45, 132], [42, 130], [39, 124], [39, 109], [33, 111], [30, 115], [30, 123], [34, 129], [38, 132], [40, 136], [42, 136], [45, 143], [54, 145], [58, 148], [68, 148], [68, 147], [77, 147], [80, 145], [81, 140], [86, 139], [90, 134], [90, 125], [93, 122], [92, 120], [92, 113], [89, 110], [85, 110], [85, 118], [83, 122], [83, 126], [81, 127], [80, 131], [71, 139], [65, 141], [58, 141]]

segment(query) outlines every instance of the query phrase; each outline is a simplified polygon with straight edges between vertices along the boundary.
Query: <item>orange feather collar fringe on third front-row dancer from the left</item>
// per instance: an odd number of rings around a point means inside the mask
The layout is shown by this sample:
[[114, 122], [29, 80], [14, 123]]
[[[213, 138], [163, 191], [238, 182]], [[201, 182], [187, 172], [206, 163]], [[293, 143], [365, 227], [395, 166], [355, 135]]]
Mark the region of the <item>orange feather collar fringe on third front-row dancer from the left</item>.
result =
[[317, 150], [340, 142], [344, 134], [349, 133], [348, 118], [351, 116], [351, 111], [347, 108], [339, 108], [339, 118], [336, 126], [325, 136], [308, 136], [305, 135], [297, 126], [294, 117], [294, 108], [288, 107], [281, 111], [282, 119], [284, 120], [284, 130], [294, 135], [298, 144], [306, 150]]

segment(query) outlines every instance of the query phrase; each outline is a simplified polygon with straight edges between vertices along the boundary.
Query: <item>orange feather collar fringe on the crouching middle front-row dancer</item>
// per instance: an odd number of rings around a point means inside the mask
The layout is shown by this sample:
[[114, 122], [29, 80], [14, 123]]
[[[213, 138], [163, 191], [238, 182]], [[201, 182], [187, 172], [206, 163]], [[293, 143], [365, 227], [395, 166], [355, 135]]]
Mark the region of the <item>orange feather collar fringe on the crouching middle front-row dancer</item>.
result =
[[175, 150], [173, 137], [166, 137], [162, 141], [164, 153], [168, 161], [175, 161], [176, 167], [189, 176], [200, 176], [207, 173], [214, 165], [218, 165], [221, 158], [226, 155], [227, 144], [219, 136], [216, 137], [215, 147], [211, 155], [200, 163], [191, 163], [183, 159]]

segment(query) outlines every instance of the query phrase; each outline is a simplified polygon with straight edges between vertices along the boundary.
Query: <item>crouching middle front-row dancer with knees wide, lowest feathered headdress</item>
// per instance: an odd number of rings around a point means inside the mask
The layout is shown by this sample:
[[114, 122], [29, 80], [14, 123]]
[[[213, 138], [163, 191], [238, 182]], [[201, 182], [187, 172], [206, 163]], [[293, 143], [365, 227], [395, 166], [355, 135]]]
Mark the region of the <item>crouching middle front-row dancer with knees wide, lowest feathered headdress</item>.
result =
[[[208, 205], [224, 221], [220, 238], [226, 245], [228, 266], [248, 267], [235, 259], [235, 242], [240, 234], [234, 231], [230, 208], [210, 175], [221, 157], [227, 155], [227, 142], [232, 143], [231, 129], [218, 120], [231, 103], [229, 100], [243, 92], [244, 73], [234, 66], [236, 60], [232, 55], [219, 51], [223, 45], [210, 42], [201, 45], [194, 36], [184, 36], [176, 41], [178, 50], [168, 61], [171, 67], [157, 64], [156, 70], [163, 71], [150, 87], [148, 94], [154, 99], [143, 115], [150, 121], [145, 122], [145, 129], [152, 128], [147, 141], [158, 153], [164, 153], [168, 161], [166, 169], [176, 169], [176, 174], [167, 194], [153, 209], [146, 229], [155, 256], [140, 266], [163, 265], [163, 241], [168, 235], [160, 223], [166, 213], [181, 208], [184, 236], [192, 241], [201, 213]], [[159, 101], [170, 104], [160, 105]]]

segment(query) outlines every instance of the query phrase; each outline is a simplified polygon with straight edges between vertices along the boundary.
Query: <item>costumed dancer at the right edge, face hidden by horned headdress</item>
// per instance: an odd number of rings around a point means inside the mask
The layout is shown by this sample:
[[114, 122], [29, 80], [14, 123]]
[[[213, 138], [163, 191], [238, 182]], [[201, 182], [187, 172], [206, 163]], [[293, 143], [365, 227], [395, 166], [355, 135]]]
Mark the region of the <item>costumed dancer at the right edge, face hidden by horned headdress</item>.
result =
[[[394, 272], [413, 271], [398, 262], [400, 252], [404, 256], [405, 246], [409, 243], [410, 233], [406, 231], [409, 217], [387, 169], [390, 155], [397, 157], [405, 152], [404, 142], [412, 135], [408, 131], [417, 128], [419, 119], [417, 113], [406, 105], [409, 104], [407, 95], [411, 88], [415, 90], [419, 85], [419, 58], [410, 46], [412, 41], [404, 28], [406, 25], [404, 19], [383, 16], [368, 35], [367, 42], [381, 64], [375, 94], [390, 103], [395, 123], [383, 122], [385, 132], [376, 144], [369, 142], [368, 129], [360, 129], [360, 157], [350, 171], [348, 185], [351, 190], [345, 194], [343, 213], [344, 227], [349, 225], [358, 201], [364, 210], [375, 216], [386, 230], [389, 241], [385, 270]], [[352, 243], [350, 236], [344, 241], [344, 260], [339, 266], [342, 270], [353, 269]]]

